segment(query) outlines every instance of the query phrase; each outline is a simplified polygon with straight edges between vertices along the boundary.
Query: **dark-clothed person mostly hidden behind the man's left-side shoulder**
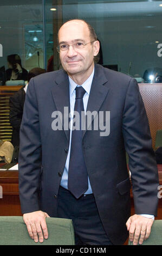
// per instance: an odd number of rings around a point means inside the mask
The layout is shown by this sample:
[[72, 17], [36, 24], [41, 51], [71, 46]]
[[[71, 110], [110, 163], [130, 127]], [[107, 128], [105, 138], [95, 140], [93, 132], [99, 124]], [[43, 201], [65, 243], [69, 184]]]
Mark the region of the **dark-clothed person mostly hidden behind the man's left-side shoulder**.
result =
[[45, 72], [46, 70], [41, 68], [31, 69], [28, 73], [27, 84], [23, 86], [20, 90], [18, 90], [18, 92], [16, 92], [14, 95], [10, 96], [9, 118], [10, 118], [10, 124], [13, 129], [11, 143], [14, 145], [14, 147], [19, 146], [19, 143], [20, 143], [19, 133], [20, 133], [20, 126], [21, 126], [22, 115], [23, 115], [25, 94], [27, 92], [28, 83], [32, 77], [43, 74]]

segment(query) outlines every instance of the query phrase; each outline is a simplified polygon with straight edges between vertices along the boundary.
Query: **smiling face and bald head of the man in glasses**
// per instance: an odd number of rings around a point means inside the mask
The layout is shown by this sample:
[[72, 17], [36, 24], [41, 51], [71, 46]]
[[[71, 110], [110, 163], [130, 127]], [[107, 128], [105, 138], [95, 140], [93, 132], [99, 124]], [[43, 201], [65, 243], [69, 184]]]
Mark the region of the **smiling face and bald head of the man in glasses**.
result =
[[[74, 20], [65, 23], [59, 31], [59, 45], [73, 45], [77, 42], [86, 44], [93, 41], [89, 35], [87, 24], [83, 21]], [[87, 44], [82, 49], [75, 49], [69, 46], [67, 51], [60, 51], [60, 60], [63, 69], [69, 75], [82, 74], [83, 76], [93, 71], [94, 56], [99, 52], [99, 42]]]

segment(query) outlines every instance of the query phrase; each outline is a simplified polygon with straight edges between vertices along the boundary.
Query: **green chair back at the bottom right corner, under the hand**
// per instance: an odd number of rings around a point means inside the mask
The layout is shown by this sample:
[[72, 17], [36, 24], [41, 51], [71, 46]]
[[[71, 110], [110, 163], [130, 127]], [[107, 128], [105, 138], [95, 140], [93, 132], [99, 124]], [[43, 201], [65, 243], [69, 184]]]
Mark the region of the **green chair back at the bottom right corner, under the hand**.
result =
[[[128, 241], [128, 245], [133, 245], [133, 242]], [[162, 220], [153, 222], [151, 234], [147, 240], [144, 240], [142, 245], [162, 245]]]

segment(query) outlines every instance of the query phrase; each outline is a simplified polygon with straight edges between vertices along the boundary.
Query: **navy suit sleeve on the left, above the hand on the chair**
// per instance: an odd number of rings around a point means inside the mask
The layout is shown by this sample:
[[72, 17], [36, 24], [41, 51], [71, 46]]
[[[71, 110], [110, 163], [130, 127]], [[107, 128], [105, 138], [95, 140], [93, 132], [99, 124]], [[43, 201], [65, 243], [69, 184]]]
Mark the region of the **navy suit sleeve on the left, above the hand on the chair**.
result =
[[24, 103], [18, 170], [22, 214], [40, 210], [41, 138], [33, 78], [28, 85]]

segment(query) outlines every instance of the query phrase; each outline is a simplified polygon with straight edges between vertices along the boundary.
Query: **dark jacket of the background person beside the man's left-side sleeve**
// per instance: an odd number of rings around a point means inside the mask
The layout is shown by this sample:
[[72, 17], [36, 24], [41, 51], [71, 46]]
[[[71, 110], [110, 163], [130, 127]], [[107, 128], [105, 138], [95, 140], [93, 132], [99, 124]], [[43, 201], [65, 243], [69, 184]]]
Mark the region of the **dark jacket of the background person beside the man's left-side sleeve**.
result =
[[20, 126], [23, 116], [23, 107], [25, 102], [25, 91], [22, 87], [14, 95], [10, 96], [10, 124], [12, 126], [12, 145], [19, 146]]

